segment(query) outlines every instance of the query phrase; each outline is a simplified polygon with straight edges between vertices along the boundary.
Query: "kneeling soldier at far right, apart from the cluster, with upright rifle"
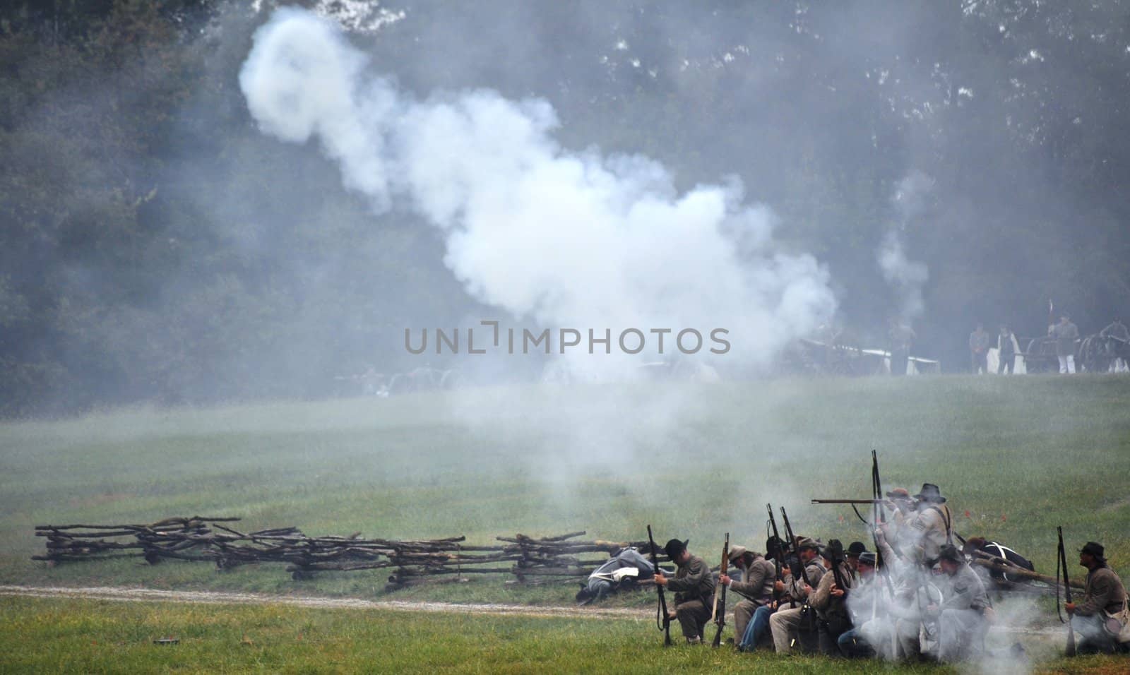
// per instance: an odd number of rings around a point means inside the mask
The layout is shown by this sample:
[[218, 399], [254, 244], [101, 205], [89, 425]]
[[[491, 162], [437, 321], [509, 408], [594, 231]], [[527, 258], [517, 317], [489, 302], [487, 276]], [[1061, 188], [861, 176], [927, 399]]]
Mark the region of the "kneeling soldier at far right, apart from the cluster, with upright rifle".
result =
[[1079, 564], [1087, 568], [1083, 603], [1068, 603], [1071, 625], [1083, 638], [1079, 651], [1113, 651], [1119, 632], [1127, 623], [1127, 589], [1106, 564], [1102, 544], [1087, 542], [1079, 551]]

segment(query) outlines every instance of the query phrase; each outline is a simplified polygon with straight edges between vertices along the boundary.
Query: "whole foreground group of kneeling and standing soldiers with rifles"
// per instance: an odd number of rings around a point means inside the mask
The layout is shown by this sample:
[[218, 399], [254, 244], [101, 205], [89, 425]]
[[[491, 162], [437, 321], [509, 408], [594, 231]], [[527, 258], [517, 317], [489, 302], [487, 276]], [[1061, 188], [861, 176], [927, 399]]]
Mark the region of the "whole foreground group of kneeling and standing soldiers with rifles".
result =
[[[664, 550], [678, 569], [673, 577], [662, 570], [654, 575], [655, 584], [675, 593], [667, 620], [678, 622], [687, 643], [702, 643], [715, 591], [725, 586], [740, 597], [732, 610], [732, 640], [740, 651], [946, 663], [979, 658], [994, 614], [985, 581], [966, 555], [975, 542], [963, 549], [954, 544], [953, 516], [937, 485], [925, 483], [914, 496], [895, 489], [886, 497], [873, 550], [862, 542], [843, 549], [836, 540], [771, 536], [764, 554], [732, 546], [729, 563], [738, 573], [715, 578], [687, 550], [687, 541], [669, 541]], [[1088, 570], [1085, 596], [1066, 605], [1079, 651], [1115, 651], [1127, 623], [1125, 588], [1098, 543], [1083, 547], [1079, 564]]]

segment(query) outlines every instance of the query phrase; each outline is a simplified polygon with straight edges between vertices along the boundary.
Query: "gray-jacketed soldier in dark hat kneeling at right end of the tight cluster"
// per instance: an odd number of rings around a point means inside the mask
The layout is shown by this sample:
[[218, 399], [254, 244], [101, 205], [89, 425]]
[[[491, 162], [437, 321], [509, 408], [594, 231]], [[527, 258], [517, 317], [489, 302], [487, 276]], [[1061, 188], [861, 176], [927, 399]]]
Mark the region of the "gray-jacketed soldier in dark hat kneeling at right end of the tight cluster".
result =
[[988, 617], [992, 610], [984, 584], [956, 546], [946, 545], [939, 553], [945, 572], [940, 606], [927, 607], [938, 616], [938, 660], [953, 663], [975, 657], [984, 650]]

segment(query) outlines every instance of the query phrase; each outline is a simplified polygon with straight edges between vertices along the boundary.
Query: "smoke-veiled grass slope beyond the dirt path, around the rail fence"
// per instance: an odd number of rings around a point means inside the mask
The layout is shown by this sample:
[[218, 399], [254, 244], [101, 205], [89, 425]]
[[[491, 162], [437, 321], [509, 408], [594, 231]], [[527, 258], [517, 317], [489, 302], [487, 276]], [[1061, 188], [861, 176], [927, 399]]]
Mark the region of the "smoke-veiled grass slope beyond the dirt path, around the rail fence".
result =
[[[1053, 573], [1063, 525], [1070, 546], [1103, 542], [1130, 576], [1130, 378], [1034, 376], [497, 388], [6, 423], [0, 582], [564, 604], [574, 586], [502, 577], [389, 595], [379, 571], [293, 581], [282, 566], [49, 568], [31, 560], [43, 551], [33, 528], [232, 515], [244, 531], [495, 543], [579, 529], [638, 540], [650, 523], [713, 559], [725, 532], [760, 549], [767, 501], [800, 533], [868, 541], [850, 509], [808, 501], [868, 497], [871, 448], [886, 488], [940, 484], [965, 536], [998, 538]], [[0, 605], [29, 617], [54, 606]], [[633, 642], [642, 629], [607, 630]]]

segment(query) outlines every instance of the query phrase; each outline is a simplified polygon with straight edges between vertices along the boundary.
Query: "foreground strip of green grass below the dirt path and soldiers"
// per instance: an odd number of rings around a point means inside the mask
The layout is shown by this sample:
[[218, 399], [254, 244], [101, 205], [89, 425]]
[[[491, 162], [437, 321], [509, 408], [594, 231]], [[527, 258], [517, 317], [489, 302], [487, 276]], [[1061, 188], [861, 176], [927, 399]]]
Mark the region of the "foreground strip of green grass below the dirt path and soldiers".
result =
[[[44, 673], [828, 673], [819, 657], [663, 649], [645, 620], [424, 614], [284, 606], [0, 601], [0, 670]], [[173, 637], [176, 645], [155, 645]], [[1113, 673], [1115, 658], [1038, 672]], [[992, 668], [991, 661], [986, 666]], [[834, 664], [836, 673], [950, 673]]]

